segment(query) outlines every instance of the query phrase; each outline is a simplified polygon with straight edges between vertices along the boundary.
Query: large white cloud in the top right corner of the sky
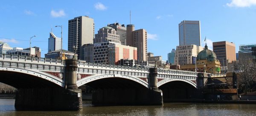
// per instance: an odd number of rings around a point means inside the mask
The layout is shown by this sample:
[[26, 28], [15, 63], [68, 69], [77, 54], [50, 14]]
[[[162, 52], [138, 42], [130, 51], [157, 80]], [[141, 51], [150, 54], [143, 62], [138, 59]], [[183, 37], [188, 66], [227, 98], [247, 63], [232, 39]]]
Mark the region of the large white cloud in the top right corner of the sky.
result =
[[256, 0], [232, 0], [226, 4], [229, 7], [250, 7], [256, 5]]

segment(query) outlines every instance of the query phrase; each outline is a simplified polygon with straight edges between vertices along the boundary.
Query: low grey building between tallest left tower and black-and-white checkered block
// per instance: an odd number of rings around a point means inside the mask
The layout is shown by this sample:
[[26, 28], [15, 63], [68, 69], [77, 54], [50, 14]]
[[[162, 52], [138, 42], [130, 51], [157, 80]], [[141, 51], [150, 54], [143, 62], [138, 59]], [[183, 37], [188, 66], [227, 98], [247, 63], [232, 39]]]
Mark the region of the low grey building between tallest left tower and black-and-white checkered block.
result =
[[93, 48], [94, 44], [84, 44], [82, 46], [80, 60], [93, 63]]

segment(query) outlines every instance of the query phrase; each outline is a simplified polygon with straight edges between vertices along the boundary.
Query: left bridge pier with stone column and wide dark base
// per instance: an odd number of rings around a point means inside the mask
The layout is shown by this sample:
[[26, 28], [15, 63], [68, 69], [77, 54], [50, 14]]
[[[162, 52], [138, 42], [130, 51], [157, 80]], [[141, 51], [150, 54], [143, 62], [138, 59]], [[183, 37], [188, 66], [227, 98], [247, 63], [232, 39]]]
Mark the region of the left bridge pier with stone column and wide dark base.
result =
[[77, 55], [66, 60], [66, 88], [57, 85], [18, 88], [16, 110], [81, 110], [81, 89], [76, 86]]

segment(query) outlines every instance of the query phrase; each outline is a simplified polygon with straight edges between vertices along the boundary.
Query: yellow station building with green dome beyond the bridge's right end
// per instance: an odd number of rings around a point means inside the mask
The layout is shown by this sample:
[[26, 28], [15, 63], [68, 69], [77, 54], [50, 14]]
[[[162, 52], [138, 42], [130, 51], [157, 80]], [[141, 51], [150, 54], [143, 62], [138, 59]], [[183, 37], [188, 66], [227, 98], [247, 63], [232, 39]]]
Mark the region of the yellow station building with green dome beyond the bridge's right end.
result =
[[220, 62], [217, 59], [216, 54], [212, 50], [208, 50], [207, 44], [205, 44], [204, 50], [198, 53], [195, 64], [187, 64], [180, 66], [181, 70], [195, 71], [195, 66], [197, 67], [197, 72], [207, 72], [218, 74], [220, 73]]

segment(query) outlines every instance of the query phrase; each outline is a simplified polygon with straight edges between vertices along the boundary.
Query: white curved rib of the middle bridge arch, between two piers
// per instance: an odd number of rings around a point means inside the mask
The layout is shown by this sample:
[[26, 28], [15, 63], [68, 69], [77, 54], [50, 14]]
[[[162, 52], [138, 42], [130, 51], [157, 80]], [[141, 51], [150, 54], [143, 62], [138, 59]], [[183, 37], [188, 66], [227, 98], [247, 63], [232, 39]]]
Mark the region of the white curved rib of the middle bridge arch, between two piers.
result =
[[86, 83], [90, 83], [95, 80], [104, 79], [104, 78], [113, 78], [113, 77], [119, 77], [119, 78], [124, 78], [124, 79], [128, 79], [128, 80], [133, 80], [133, 81], [145, 86], [146, 88], [148, 88], [148, 83], [145, 82], [144, 80], [142, 80], [138, 77], [126, 76], [126, 75], [92, 75], [89, 77], [85, 77], [81, 80], [78, 80], [76, 85], [79, 87], [79, 86], [82, 86]]

